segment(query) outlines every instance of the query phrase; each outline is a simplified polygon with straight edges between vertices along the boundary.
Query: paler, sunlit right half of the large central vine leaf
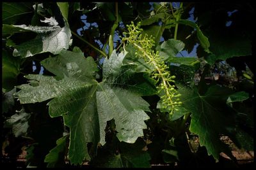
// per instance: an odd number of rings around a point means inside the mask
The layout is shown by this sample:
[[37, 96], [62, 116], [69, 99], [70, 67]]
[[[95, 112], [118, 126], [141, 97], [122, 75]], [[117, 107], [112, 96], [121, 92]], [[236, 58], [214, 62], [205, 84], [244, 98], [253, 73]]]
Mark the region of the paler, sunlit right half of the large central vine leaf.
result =
[[125, 83], [124, 80], [129, 79], [133, 73], [129, 68], [122, 69], [125, 55], [126, 52], [116, 55], [114, 50], [111, 57], [104, 60], [103, 81], [97, 92], [99, 122], [102, 124], [100, 128], [100, 143], [102, 144], [105, 139], [106, 122], [112, 118], [115, 119], [117, 137], [120, 141], [134, 143], [139, 136], [143, 136], [142, 129], [147, 128], [143, 120], [149, 117], [143, 110], [150, 111], [149, 104], [138, 94], [129, 92], [129, 87], [128, 89], [115, 87], [119, 83]]

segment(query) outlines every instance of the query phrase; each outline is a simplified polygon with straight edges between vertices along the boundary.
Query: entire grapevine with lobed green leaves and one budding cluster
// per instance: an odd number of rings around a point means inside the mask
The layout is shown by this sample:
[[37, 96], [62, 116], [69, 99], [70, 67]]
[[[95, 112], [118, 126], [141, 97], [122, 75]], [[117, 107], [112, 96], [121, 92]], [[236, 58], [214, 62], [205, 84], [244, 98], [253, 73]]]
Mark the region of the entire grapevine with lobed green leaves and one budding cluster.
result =
[[[17, 157], [26, 146], [28, 167], [184, 167], [195, 166], [189, 159], [196, 157], [205, 160], [202, 166], [214, 164], [221, 152], [235, 164], [221, 136], [253, 150], [253, 73], [243, 60], [252, 55], [253, 31], [243, 27], [241, 36], [241, 27], [204, 18], [228, 5], [208, 11], [201, 3], [174, 6], [152, 3], [149, 11], [148, 3], [3, 3], [5, 154]], [[196, 22], [184, 19], [193, 6]], [[90, 26], [80, 36], [83, 14]], [[198, 57], [177, 57], [195, 43]], [[228, 60], [238, 56], [246, 62], [241, 70], [243, 64]], [[209, 78], [220, 60], [230, 62], [221, 71], [250, 76]], [[241, 81], [233, 82], [237, 77]]]

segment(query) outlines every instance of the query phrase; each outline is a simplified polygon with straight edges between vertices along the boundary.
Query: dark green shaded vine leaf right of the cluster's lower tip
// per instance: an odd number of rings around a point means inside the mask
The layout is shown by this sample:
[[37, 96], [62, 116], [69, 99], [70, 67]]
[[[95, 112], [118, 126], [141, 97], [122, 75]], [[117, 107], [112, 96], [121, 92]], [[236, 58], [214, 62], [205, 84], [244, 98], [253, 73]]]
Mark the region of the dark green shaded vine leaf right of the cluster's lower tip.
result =
[[208, 154], [216, 160], [219, 159], [220, 152], [232, 155], [220, 141], [220, 134], [230, 136], [230, 129], [236, 127], [236, 115], [226, 103], [234, 92], [218, 85], [209, 87], [204, 95], [200, 95], [196, 89], [189, 90], [184, 87], [179, 92], [182, 94], [184, 108], [192, 113], [190, 131], [198, 134], [200, 145], [205, 146]]

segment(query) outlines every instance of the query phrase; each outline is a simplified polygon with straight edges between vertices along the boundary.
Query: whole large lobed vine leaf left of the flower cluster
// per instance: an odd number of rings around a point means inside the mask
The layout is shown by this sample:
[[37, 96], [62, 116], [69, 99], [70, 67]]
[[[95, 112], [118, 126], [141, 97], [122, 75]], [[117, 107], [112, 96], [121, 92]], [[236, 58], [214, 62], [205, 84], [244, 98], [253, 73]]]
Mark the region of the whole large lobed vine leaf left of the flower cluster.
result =
[[125, 52], [116, 55], [114, 51], [109, 59], [104, 60], [103, 80], [98, 83], [92, 76], [97, 70], [92, 57], [84, 59], [81, 52], [61, 52], [42, 62], [61, 80], [29, 74], [26, 78], [30, 85], [18, 87], [22, 89], [17, 92], [22, 104], [54, 98], [48, 103], [49, 114], [51, 117], [63, 116], [65, 125], [70, 127], [68, 155], [72, 164], [90, 160], [88, 143], [93, 143], [94, 151], [99, 142], [104, 145], [108, 120], [115, 119], [120, 141], [134, 143], [143, 136], [143, 129], [147, 127], [144, 120], [149, 118], [145, 111], [150, 111], [149, 105], [140, 93], [129, 90], [140, 87], [124, 84], [125, 79], [129, 80], [135, 73], [133, 65], [122, 66], [125, 55]]

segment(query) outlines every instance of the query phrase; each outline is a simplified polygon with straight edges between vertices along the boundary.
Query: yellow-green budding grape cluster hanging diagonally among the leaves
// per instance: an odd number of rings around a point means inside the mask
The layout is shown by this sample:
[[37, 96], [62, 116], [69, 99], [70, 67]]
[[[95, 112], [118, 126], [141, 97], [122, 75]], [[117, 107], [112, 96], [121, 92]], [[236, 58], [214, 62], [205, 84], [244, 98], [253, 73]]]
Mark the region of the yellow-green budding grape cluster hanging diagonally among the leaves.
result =
[[130, 43], [137, 48], [136, 56], [140, 57], [147, 62], [150, 66], [153, 66], [154, 69], [150, 70], [152, 72], [152, 78], [157, 80], [159, 84], [157, 86], [157, 92], [161, 97], [161, 108], [168, 110], [170, 117], [173, 115], [173, 111], [178, 111], [177, 106], [182, 104], [180, 102], [180, 94], [175, 89], [175, 76], [171, 76], [168, 71], [168, 66], [164, 63], [163, 58], [159, 55], [159, 52], [154, 52], [152, 47], [155, 42], [152, 36], [148, 37], [147, 34], [142, 36], [140, 28], [140, 22], [137, 25], [134, 25], [134, 22], [131, 22], [131, 25], [127, 25], [128, 32], [124, 32], [125, 37], [122, 38], [125, 43]]

